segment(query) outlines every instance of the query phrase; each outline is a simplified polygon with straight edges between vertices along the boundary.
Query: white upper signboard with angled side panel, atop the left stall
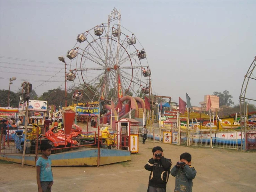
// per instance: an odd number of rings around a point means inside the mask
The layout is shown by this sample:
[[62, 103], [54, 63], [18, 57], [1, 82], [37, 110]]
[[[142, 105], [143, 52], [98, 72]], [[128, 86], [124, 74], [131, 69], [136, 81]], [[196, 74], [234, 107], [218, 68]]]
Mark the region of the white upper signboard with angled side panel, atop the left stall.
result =
[[[24, 104], [19, 104], [19, 111], [25, 111], [26, 105], [27, 105], [27, 102]], [[29, 100], [28, 110], [29, 111], [47, 111], [47, 101]]]

